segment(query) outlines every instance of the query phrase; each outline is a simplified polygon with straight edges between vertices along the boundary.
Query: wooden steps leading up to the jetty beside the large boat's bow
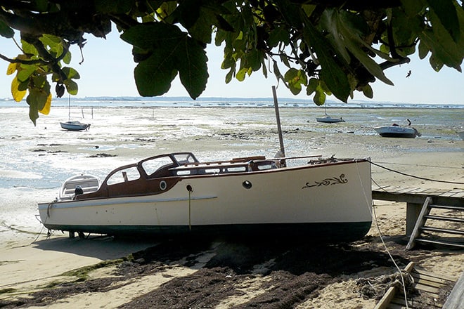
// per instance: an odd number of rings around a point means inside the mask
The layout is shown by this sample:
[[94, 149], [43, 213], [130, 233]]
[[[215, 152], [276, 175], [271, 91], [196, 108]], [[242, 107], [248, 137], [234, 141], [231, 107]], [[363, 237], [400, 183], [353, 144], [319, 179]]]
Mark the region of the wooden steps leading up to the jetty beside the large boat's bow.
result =
[[[416, 242], [464, 249], [464, 218], [462, 216], [464, 208], [437, 205], [432, 202], [432, 197], [425, 199], [406, 249], [413, 249]], [[445, 225], [447, 228], [444, 228], [441, 223], [450, 223], [451, 226]]]

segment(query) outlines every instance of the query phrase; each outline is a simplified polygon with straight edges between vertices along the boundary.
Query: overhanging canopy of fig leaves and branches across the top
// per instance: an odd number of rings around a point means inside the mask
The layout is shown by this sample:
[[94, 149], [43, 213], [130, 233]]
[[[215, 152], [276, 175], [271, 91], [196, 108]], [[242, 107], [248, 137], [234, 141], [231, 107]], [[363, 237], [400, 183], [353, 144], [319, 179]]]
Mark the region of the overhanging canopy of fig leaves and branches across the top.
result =
[[[11, 63], [11, 93], [27, 95], [30, 119], [49, 111], [57, 96], [78, 93], [79, 73], [67, 67], [69, 48], [85, 53], [85, 34], [104, 38], [116, 25], [133, 46], [134, 79], [141, 96], [160, 96], [179, 75], [191, 98], [208, 80], [207, 44], [221, 46], [226, 83], [271, 72], [294, 94], [306, 89], [321, 105], [333, 94], [346, 102], [354, 91], [372, 98], [371, 84], [392, 84], [385, 69], [418, 51], [433, 70], [461, 71], [464, 10], [458, 0], [87, 0], [6, 1], [0, 35], [20, 32]], [[27, 94], [28, 93], [28, 94]]]

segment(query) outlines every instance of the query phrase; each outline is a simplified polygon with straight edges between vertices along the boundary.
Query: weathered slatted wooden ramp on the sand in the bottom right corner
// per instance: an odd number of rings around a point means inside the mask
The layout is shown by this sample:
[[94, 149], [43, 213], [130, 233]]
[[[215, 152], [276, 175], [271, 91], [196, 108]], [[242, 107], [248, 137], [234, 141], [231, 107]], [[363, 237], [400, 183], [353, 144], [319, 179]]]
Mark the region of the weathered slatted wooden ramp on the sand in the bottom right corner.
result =
[[[409, 263], [404, 268], [413, 278], [413, 284], [408, 287], [407, 308], [423, 309], [423, 308], [445, 308], [444, 303], [456, 303], [454, 297], [451, 297], [455, 289], [451, 292], [448, 300], [446, 299], [446, 289], [455, 286], [456, 280], [446, 275], [433, 274], [425, 270], [417, 270], [414, 268], [414, 263]], [[461, 278], [464, 276], [461, 275]], [[464, 280], [463, 280], [464, 282]], [[462, 295], [462, 289], [457, 289], [458, 297]], [[459, 294], [460, 292], [460, 294]], [[452, 301], [449, 301], [452, 298]], [[458, 299], [458, 304], [460, 300]], [[403, 290], [398, 287], [390, 287], [380, 301], [375, 305], [374, 309], [402, 309], [406, 308]], [[448, 309], [458, 309], [451, 305]]]

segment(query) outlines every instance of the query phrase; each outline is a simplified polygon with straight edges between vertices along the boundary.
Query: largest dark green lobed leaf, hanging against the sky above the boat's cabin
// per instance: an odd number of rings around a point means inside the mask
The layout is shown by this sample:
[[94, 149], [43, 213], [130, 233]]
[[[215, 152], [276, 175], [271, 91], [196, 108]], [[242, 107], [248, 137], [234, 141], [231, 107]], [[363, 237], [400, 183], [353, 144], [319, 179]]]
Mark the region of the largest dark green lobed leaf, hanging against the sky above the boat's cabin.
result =
[[191, 98], [198, 98], [205, 90], [208, 78], [205, 50], [178, 27], [160, 22], [138, 25], [128, 29], [121, 37], [151, 52], [134, 71], [141, 96], [166, 93], [177, 72]]

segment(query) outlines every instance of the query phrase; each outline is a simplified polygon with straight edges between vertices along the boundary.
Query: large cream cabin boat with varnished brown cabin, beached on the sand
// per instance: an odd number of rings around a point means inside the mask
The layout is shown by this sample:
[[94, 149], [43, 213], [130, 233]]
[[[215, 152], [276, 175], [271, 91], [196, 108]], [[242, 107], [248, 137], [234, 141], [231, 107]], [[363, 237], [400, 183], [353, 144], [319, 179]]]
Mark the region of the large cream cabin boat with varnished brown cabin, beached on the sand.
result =
[[366, 235], [372, 222], [369, 159], [313, 156], [307, 164], [282, 167], [292, 159], [199, 162], [191, 152], [157, 155], [115, 169], [101, 184], [70, 178], [58, 199], [38, 204], [39, 216], [49, 230], [70, 235], [283, 236], [311, 242]]

